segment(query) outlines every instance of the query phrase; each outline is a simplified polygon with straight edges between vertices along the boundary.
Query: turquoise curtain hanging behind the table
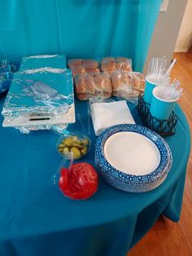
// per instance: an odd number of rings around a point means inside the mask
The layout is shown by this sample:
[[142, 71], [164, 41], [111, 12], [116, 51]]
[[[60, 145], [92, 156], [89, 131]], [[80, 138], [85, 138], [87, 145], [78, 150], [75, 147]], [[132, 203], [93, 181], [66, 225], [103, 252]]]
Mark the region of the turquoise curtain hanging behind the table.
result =
[[161, 0], [0, 0], [0, 59], [126, 55], [142, 71]]

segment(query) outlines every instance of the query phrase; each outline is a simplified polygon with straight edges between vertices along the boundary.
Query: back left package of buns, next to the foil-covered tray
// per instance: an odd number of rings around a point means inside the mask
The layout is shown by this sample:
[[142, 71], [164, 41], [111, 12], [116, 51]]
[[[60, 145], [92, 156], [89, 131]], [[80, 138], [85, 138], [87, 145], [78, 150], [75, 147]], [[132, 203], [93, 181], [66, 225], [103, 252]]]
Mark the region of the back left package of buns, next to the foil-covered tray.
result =
[[72, 59], [68, 60], [68, 67], [72, 70], [72, 75], [80, 75], [83, 73], [98, 72], [98, 61], [94, 59]]

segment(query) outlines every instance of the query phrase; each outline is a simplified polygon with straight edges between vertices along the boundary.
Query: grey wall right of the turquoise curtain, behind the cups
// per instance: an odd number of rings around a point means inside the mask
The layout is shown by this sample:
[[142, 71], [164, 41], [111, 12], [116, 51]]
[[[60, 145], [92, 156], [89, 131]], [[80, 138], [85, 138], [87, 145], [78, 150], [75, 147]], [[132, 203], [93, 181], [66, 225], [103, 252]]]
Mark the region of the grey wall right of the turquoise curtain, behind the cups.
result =
[[169, 0], [168, 11], [159, 12], [159, 18], [143, 70], [144, 73], [146, 73], [147, 64], [152, 57], [163, 57], [165, 55], [169, 61], [172, 60], [172, 53], [181, 28], [186, 3], [187, 0]]

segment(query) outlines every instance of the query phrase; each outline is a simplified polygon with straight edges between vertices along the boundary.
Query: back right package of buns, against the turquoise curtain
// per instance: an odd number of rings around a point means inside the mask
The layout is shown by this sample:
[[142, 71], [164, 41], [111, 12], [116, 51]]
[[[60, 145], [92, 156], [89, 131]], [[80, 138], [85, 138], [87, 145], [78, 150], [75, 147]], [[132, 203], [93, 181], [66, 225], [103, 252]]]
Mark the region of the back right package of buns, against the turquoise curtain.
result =
[[132, 60], [125, 57], [105, 57], [101, 60], [101, 70], [112, 73], [115, 70], [132, 71]]

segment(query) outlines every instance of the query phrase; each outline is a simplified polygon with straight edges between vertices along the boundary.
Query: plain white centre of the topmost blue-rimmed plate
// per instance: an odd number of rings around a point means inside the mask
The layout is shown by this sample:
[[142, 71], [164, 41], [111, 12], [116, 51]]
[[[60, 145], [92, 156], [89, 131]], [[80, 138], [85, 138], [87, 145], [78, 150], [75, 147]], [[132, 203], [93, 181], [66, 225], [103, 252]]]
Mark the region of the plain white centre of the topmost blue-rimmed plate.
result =
[[155, 143], [132, 131], [111, 135], [104, 145], [104, 155], [111, 166], [125, 174], [150, 174], [160, 163]]

